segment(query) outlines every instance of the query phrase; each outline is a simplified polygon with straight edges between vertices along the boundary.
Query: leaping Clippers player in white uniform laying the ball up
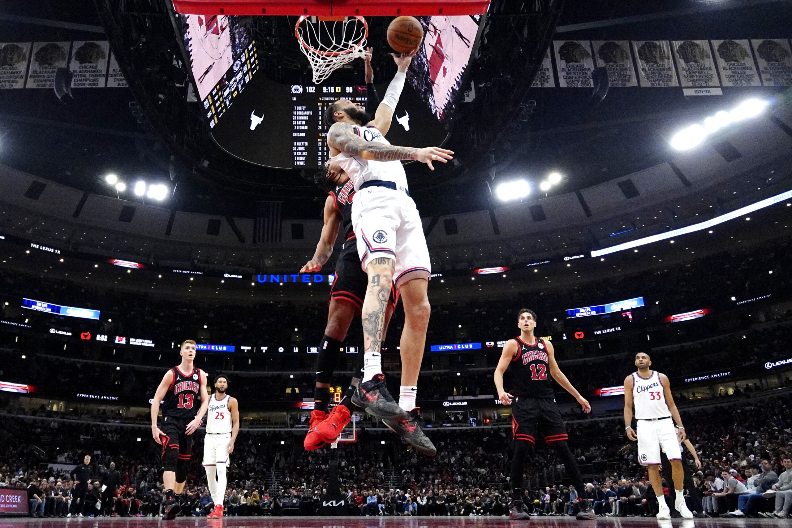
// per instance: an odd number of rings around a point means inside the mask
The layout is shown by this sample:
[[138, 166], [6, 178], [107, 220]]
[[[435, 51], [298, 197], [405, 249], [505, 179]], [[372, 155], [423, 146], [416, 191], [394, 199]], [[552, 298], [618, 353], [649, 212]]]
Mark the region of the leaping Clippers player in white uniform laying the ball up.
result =
[[384, 419], [383, 423], [421, 453], [432, 456], [435, 446], [421, 430], [420, 409], [415, 406], [431, 311], [426, 294], [431, 262], [421, 216], [409, 197], [407, 177], [400, 160], [417, 159], [434, 170], [432, 162], [447, 163], [453, 152], [437, 147], [394, 147], [385, 139], [402, 94], [407, 67], [413, 59], [412, 55], [393, 56], [398, 72], [373, 120], [359, 105], [347, 99], [329, 105], [325, 114], [327, 123], [331, 124], [327, 133], [330, 155], [355, 186], [352, 227], [357, 235], [361, 266], [368, 277], [361, 314], [364, 378], [352, 402], [372, 415], [382, 415], [384, 404], [392, 402], [382, 373], [380, 346], [390, 289], [395, 284], [405, 312], [398, 403], [408, 415], [406, 419]]

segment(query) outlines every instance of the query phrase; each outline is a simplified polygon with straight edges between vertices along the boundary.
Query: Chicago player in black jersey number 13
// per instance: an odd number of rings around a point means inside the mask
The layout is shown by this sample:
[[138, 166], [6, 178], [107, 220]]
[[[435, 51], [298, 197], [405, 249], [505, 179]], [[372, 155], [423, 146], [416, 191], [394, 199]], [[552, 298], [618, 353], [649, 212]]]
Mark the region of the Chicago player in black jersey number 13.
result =
[[[167, 503], [164, 517], [168, 519], [181, 511], [179, 495], [187, 481], [192, 433], [200, 427], [209, 406], [206, 373], [193, 364], [196, 342], [188, 339], [181, 343], [179, 354], [181, 363], [165, 373], [151, 402], [151, 435], [162, 444], [162, 484]], [[161, 401], [162, 429], [157, 427]]]

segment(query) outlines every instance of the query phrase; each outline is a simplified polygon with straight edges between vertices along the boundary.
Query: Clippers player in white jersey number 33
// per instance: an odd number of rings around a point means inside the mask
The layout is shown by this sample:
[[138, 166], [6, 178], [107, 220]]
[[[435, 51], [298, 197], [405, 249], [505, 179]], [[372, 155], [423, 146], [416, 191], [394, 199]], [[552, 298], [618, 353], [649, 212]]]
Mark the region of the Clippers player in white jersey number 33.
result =
[[[674, 507], [683, 518], [693, 518], [687, 509], [684, 497], [684, 473], [682, 469], [682, 450], [680, 442], [685, 440], [685, 428], [682, 425], [680, 411], [676, 409], [671, 395], [671, 384], [665, 374], [650, 370], [652, 360], [649, 354], [635, 354], [635, 366], [638, 372], [627, 376], [624, 380], [624, 427], [627, 438], [635, 442], [638, 434], [638, 461], [649, 466], [649, 482], [652, 483], [654, 494], [657, 495], [659, 510], [657, 518], [671, 518], [671, 511], [665, 503], [663, 481], [660, 478], [660, 450], [671, 462], [671, 476], [676, 490]], [[638, 430], [633, 430], [633, 405]], [[680, 439], [676, 438], [674, 422], [680, 429]]]

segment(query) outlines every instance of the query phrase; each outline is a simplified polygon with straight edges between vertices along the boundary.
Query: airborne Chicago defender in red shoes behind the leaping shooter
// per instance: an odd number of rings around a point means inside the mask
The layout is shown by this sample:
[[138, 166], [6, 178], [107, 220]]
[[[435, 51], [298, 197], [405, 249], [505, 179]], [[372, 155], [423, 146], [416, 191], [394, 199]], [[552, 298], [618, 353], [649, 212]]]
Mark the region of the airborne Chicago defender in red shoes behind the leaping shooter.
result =
[[[371, 48], [368, 48], [367, 52], [364, 58], [368, 94], [366, 108], [371, 109], [379, 105], [379, 99], [374, 87], [374, 71], [371, 69]], [[341, 170], [341, 167], [337, 166], [337, 163], [329, 163], [318, 171], [315, 179], [317, 184], [322, 187], [326, 187], [328, 184], [333, 185], [333, 183], [336, 185], [328, 191], [329, 196], [325, 201], [325, 224], [322, 227], [322, 236], [316, 245], [314, 257], [299, 272], [305, 274], [322, 270], [322, 266], [333, 254], [333, 246], [338, 238], [339, 228], [342, 226], [345, 242], [336, 263], [336, 280], [333, 282], [333, 289], [330, 290], [325, 335], [322, 336], [322, 342], [319, 343], [319, 353], [316, 357], [314, 410], [310, 413], [310, 426], [303, 440], [303, 446], [307, 451], [318, 450], [327, 443], [335, 442], [352, 417], [352, 393], [357, 388], [360, 378], [363, 377], [361, 373], [363, 370], [362, 351], [358, 353], [359, 361], [356, 361], [353, 370], [352, 383], [345, 391], [341, 402], [333, 407], [333, 411], [328, 414], [329, 386], [330, 381], [333, 381], [333, 372], [338, 363], [341, 345], [346, 339], [349, 324], [352, 323], [354, 316], [360, 314], [368, 285], [366, 272], [360, 268], [360, 257], [357, 256], [357, 239], [355, 231], [352, 230], [352, 197], [355, 195], [355, 186]], [[393, 315], [396, 308], [397, 298], [398, 293], [392, 289], [385, 312], [383, 340], [390, 316]], [[392, 402], [388, 403], [391, 407], [390, 415], [382, 416], [382, 418], [403, 419], [406, 417], [406, 413], [401, 407]]]

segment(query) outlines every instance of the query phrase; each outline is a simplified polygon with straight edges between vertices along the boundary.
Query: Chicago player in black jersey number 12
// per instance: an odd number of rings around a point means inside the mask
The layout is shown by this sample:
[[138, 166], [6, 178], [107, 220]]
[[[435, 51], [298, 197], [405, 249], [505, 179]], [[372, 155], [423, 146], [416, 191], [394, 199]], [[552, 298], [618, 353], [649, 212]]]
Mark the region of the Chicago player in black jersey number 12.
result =
[[[512, 459], [512, 497], [514, 505], [509, 516], [511, 518], [528, 518], [523, 510], [523, 469], [525, 458], [536, 443], [536, 435], [542, 433], [548, 446], [554, 446], [561, 455], [578, 497], [582, 499], [581, 511], [577, 518], [590, 520], [595, 518], [585, 496], [585, 486], [581, 478], [581, 470], [569, 450], [566, 427], [561, 413], [555, 404], [552, 377], [565, 388], [584, 412], [591, 412], [592, 407], [581, 396], [580, 392], [569, 383], [564, 373], [555, 362], [553, 345], [549, 341], [534, 335], [536, 314], [528, 308], [520, 308], [517, 312], [517, 327], [520, 337], [510, 339], [503, 347], [501, 360], [495, 369], [495, 387], [501, 404], [511, 405], [512, 401], [512, 442], [514, 442], [514, 458]], [[510, 375], [509, 391], [503, 385], [503, 375], [508, 369]]]

